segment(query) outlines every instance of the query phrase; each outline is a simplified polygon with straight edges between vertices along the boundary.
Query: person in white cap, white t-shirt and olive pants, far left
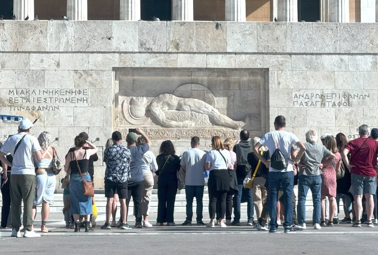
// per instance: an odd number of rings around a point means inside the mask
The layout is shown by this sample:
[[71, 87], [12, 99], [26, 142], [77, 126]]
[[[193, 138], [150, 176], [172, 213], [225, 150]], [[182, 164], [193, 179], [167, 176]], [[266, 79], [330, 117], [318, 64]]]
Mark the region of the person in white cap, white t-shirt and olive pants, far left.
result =
[[[21, 201], [23, 200], [23, 237], [40, 237], [32, 229], [32, 207], [35, 194], [34, 160], [41, 161], [41, 147], [37, 138], [30, 135], [33, 123], [29, 119], [19, 122], [18, 133], [8, 138], [0, 148], [0, 160], [12, 167], [11, 171], [11, 208], [12, 237], [21, 237]], [[6, 155], [11, 154], [9, 162]], [[5, 182], [7, 180], [4, 180]]]

